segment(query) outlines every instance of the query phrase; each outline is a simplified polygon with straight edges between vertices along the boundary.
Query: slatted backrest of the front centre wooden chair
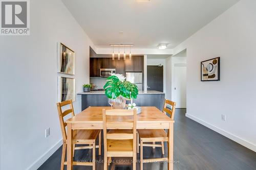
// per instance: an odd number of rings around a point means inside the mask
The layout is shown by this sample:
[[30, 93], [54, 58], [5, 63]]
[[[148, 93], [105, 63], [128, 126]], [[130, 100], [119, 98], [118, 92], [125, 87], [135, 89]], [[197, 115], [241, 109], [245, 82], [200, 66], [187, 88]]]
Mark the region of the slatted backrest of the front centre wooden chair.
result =
[[[124, 110], [124, 109], [112, 109], [102, 110], [103, 116], [103, 132], [104, 132], [104, 145], [106, 139], [134, 139], [136, 144], [136, 119], [137, 110]], [[109, 116], [107, 118], [107, 116]], [[118, 116], [118, 118], [117, 118]], [[133, 117], [131, 119], [131, 117]], [[106, 133], [108, 129], [133, 129], [133, 133]]]

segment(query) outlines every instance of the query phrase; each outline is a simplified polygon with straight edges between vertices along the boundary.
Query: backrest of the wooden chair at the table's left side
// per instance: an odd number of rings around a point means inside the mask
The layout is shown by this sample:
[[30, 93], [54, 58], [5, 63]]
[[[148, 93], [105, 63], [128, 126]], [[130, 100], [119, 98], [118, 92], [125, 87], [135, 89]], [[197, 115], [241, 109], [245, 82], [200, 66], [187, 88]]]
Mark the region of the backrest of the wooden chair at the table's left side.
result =
[[[70, 108], [65, 111], [62, 111], [61, 107], [67, 106], [67, 105], [69, 105]], [[65, 120], [63, 119], [63, 117], [69, 115], [70, 113], [72, 117], [75, 115], [72, 100], [57, 103], [57, 108], [58, 108], [58, 115], [59, 115], [59, 122], [60, 122], [62, 137], [63, 137], [63, 140], [67, 140], [67, 132], [66, 132], [67, 123], [65, 123]]]

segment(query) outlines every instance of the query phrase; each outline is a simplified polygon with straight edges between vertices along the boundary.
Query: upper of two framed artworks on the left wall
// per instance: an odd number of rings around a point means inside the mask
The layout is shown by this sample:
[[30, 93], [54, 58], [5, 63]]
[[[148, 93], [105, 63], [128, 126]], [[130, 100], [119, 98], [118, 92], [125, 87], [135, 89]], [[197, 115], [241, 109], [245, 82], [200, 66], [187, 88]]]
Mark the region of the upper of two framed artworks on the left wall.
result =
[[58, 72], [75, 75], [75, 52], [62, 43], [58, 43]]

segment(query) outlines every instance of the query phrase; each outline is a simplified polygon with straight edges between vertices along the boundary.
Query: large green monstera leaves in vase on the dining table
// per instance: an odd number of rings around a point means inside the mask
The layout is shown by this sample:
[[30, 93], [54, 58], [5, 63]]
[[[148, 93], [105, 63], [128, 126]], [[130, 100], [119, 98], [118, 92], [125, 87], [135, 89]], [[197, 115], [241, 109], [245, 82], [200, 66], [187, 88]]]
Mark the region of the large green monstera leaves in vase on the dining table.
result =
[[139, 92], [136, 84], [125, 81], [124, 76], [119, 74], [112, 74], [106, 79], [104, 90], [114, 109], [124, 109], [126, 99], [136, 99]]

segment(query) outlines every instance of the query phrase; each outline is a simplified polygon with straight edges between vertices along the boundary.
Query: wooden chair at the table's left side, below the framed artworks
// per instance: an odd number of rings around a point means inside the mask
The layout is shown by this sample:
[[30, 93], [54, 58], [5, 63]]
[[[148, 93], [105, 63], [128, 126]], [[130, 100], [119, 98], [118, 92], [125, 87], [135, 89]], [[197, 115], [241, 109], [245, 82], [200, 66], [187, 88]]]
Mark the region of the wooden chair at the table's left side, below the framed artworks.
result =
[[[63, 106], [69, 105], [70, 108], [62, 111]], [[75, 116], [74, 108], [72, 104], [72, 100], [64, 101], [61, 103], [57, 103], [58, 108], [58, 115], [59, 115], [59, 122], [63, 137], [63, 146], [62, 146], [62, 156], [61, 156], [61, 166], [60, 170], [64, 169], [64, 165], [67, 165], [67, 161], [65, 161], [66, 157], [66, 151], [67, 151], [67, 132], [66, 132], [66, 126], [67, 123], [65, 123], [65, 120], [63, 117], [71, 114], [71, 116]], [[99, 145], [95, 145], [95, 140], [99, 136]], [[81, 149], [92, 149], [93, 151], [93, 162], [74, 162], [74, 165], [89, 165], [93, 166], [93, 170], [95, 170], [95, 148], [99, 148], [99, 155], [101, 155], [101, 132], [100, 130], [74, 130], [73, 132], [73, 143], [75, 144], [89, 144], [85, 147], [73, 147], [73, 157], [75, 150], [81, 150]]]

